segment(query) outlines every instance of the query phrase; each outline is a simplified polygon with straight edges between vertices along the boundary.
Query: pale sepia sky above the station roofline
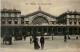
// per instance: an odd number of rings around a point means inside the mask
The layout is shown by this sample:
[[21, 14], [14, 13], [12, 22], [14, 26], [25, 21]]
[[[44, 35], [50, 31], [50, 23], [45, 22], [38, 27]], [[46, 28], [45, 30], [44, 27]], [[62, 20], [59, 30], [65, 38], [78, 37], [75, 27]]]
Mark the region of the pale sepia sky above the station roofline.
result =
[[68, 9], [80, 12], [80, 0], [1, 0], [1, 8], [21, 10], [22, 15], [41, 10], [58, 16]]

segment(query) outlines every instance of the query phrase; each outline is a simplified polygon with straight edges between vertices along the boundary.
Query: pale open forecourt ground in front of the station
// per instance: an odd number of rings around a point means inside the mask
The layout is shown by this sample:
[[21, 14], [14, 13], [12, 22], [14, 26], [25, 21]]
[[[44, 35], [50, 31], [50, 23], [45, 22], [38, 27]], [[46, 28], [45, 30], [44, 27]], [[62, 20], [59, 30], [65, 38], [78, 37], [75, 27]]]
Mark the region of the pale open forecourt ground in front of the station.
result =
[[[27, 52], [80, 52], [80, 37], [77, 40], [75, 36], [71, 36], [67, 43], [64, 43], [63, 36], [54, 36], [52, 40], [51, 36], [45, 37], [49, 38], [45, 40], [44, 49], [34, 49], [33, 43], [30, 44], [30, 37], [26, 37], [26, 40], [14, 41], [12, 38], [12, 45], [5, 45], [2, 43], [2, 38], [0, 38], [1, 51], [27, 51]], [[38, 37], [40, 45], [40, 37]]]

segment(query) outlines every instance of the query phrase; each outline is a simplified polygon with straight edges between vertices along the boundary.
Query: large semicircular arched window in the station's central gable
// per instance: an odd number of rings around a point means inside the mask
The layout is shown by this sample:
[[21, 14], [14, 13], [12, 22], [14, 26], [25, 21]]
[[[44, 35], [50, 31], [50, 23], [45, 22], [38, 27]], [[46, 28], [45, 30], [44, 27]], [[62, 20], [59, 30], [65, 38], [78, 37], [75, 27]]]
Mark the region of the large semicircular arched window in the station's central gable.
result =
[[36, 18], [33, 19], [32, 23], [41, 25], [41, 24], [48, 24], [48, 20], [42, 16], [38, 16]]

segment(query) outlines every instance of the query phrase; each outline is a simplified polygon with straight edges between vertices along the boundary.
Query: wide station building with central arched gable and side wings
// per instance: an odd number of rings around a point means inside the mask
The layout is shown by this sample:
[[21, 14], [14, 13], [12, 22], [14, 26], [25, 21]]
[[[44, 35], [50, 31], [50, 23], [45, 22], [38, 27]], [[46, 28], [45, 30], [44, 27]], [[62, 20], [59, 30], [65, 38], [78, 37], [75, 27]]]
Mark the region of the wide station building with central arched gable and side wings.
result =
[[80, 13], [67, 11], [53, 16], [39, 8], [28, 15], [20, 10], [1, 10], [1, 36], [17, 35], [80, 35]]

